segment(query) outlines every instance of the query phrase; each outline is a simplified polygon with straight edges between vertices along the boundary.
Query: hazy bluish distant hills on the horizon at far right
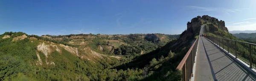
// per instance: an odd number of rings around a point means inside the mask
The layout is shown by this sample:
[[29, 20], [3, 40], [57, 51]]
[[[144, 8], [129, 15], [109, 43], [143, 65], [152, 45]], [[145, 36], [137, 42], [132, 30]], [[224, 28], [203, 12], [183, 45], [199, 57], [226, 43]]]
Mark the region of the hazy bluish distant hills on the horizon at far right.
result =
[[233, 35], [237, 38], [256, 38], [256, 33], [236, 33]]

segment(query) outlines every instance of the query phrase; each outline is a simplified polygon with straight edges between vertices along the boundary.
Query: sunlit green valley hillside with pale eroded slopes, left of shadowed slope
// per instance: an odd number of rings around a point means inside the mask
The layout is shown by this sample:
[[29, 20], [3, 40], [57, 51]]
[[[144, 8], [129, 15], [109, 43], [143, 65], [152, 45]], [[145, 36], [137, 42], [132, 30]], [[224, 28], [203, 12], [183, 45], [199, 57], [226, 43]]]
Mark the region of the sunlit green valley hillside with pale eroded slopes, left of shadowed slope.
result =
[[[145, 39], [145, 35], [153, 37]], [[23, 32], [5, 32], [0, 35], [0, 80], [143, 80], [150, 75], [145, 74], [148, 70], [117, 70], [113, 67], [164, 46], [179, 36], [145, 35], [37, 36]], [[163, 62], [164, 58], [161, 60], [151, 61], [151, 66]]]

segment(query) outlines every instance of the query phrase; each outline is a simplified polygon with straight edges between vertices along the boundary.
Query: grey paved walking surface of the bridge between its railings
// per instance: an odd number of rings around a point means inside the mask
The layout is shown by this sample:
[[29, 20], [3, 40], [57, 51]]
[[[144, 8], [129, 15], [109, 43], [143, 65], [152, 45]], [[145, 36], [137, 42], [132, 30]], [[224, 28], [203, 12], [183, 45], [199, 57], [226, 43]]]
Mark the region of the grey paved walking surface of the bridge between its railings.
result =
[[256, 81], [256, 76], [206, 38], [199, 38], [195, 81]]

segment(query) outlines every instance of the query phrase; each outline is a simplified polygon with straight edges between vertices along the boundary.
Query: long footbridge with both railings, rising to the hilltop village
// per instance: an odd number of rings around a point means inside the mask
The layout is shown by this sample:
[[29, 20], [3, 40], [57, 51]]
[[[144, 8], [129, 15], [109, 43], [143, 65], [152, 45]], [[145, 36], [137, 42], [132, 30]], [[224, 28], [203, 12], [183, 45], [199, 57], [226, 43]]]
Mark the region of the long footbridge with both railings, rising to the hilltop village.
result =
[[176, 69], [181, 81], [256, 81], [255, 67], [256, 44], [198, 36]]

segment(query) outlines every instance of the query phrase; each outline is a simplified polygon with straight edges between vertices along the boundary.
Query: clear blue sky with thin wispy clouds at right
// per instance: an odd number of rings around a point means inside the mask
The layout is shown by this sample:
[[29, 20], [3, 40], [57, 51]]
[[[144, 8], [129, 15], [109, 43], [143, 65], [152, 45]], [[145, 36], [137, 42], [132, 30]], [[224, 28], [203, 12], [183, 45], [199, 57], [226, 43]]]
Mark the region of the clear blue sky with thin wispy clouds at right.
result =
[[0, 0], [0, 33], [180, 34], [196, 16], [256, 30], [256, 0]]

